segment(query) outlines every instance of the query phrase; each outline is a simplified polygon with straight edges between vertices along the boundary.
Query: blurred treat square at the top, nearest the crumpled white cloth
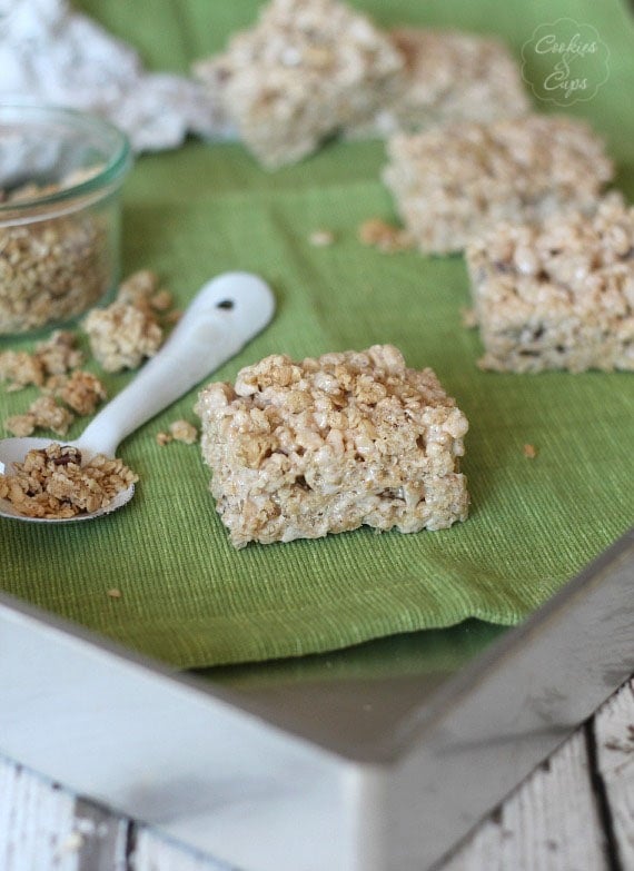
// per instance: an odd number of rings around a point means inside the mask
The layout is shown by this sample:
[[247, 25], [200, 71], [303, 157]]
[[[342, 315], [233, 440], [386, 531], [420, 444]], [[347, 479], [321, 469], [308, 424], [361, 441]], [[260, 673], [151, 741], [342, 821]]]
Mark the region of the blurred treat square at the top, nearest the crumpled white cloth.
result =
[[271, 0], [258, 23], [194, 72], [258, 160], [274, 169], [372, 117], [403, 60], [372, 21], [338, 0]]

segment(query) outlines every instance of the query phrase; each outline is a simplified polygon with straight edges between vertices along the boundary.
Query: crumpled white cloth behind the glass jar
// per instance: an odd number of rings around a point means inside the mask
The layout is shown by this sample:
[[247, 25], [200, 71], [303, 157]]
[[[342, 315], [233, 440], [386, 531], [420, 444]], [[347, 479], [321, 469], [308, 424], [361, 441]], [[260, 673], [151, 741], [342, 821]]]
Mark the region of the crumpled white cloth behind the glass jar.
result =
[[198, 82], [147, 72], [130, 46], [67, 0], [0, 0], [0, 102], [101, 115], [128, 135], [137, 152], [176, 148], [188, 133], [235, 138]]

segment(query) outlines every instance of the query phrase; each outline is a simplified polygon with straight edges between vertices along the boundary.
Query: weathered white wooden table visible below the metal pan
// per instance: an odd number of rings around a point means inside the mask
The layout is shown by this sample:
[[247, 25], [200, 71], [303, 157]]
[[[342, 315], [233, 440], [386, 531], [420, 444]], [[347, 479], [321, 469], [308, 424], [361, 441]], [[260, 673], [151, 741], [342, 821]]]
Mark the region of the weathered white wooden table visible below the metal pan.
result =
[[[224, 867], [0, 756], [0, 869], [221, 871]], [[634, 869], [634, 679], [439, 869]]]

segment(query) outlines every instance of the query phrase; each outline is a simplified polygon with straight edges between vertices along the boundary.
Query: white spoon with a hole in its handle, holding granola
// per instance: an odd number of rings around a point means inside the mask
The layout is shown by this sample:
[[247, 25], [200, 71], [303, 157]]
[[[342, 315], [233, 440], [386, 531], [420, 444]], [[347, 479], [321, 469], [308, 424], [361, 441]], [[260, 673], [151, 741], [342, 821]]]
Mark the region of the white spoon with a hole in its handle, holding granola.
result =
[[[226, 273], [214, 278], [198, 291], [165, 345], [139, 375], [99, 412], [76, 442], [63, 444], [78, 447], [83, 461], [95, 454], [113, 457], [126, 436], [237, 354], [266, 327], [274, 311], [274, 296], [261, 278], [249, 273]], [[47, 447], [52, 441], [0, 441], [0, 473], [10, 475], [12, 463], [21, 463], [29, 451]], [[85, 521], [121, 507], [133, 492], [131, 485], [106, 508], [69, 518], [24, 517], [8, 499], [0, 499], [0, 517], [32, 523]]]

